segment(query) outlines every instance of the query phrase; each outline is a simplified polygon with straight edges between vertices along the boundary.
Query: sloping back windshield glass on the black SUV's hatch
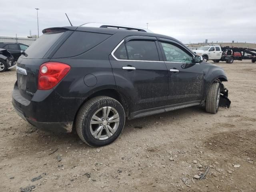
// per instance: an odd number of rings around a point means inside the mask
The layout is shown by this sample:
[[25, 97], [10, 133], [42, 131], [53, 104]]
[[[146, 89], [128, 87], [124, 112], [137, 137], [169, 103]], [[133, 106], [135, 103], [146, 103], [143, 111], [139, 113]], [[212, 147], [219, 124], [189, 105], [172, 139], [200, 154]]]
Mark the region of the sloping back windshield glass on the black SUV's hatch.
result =
[[[26, 58], [43, 58], [52, 45], [62, 36], [64, 32], [45, 33], [26, 49]], [[24, 56], [22, 56], [24, 57]]]

